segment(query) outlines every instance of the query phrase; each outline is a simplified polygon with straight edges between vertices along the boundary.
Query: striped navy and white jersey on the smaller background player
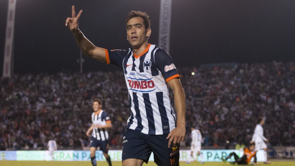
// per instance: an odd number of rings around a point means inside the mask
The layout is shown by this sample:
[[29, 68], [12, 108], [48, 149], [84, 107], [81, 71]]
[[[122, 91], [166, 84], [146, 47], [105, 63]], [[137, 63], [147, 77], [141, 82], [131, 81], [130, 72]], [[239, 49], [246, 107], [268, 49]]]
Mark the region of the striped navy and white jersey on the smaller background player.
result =
[[[92, 123], [98, 125], [106, 125], [106, 122], [111, 121], [108, 114], [103, 110], [92, 113]], [[108, 140], [108, 130], [106, 128], [93, 127], [92, 136], [97, 140]]]

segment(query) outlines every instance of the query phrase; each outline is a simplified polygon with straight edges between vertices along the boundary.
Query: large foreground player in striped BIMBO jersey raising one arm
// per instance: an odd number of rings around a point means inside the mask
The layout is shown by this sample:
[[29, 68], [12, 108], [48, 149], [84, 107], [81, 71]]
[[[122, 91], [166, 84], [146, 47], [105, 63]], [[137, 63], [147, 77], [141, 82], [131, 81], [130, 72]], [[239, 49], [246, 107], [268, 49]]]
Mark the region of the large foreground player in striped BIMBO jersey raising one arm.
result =
[[[179, 165], [179, 143], [186, 132], [185, 93], [171, 57], [164, 49], [148, 43], [149, 16], [131, 11], [126, 18], [126, 34], [132, 48], [109, 50], [85, 38], [78, 29], [81, 14], [82, 10], [76, 16], [72, 6], [72, 18], [65, 21], [80, 49], [88, 57], [120, 66], [124, 72], [131, 115], [123, 137], [123, 166], [148, 163], [151, 152], [158, 165]], [[174, 93], [177, 116], [169, 99], [169, 87]]]

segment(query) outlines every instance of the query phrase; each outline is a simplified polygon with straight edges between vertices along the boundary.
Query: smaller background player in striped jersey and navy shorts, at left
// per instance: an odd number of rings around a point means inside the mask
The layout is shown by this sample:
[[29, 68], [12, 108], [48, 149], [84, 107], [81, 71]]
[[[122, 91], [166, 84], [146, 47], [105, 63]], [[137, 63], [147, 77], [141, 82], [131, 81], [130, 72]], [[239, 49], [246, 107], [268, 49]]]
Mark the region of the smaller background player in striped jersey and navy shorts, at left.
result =
[[89, 136], [92, 130], [92, 137], [90, 141], [90, 158], [93, 166], [96, 166], [95, 151], [100, 146], [105, 159], [109, 166], [112, 166], [111, 158], [108, 155], [108, 130], [112, 127], [112, 123], [108, 114], [101, 109], [101, 101], [99, 99], [93, 100], [93, 113], [91, 116], [92, 125], [86, 132], [86, 136]]

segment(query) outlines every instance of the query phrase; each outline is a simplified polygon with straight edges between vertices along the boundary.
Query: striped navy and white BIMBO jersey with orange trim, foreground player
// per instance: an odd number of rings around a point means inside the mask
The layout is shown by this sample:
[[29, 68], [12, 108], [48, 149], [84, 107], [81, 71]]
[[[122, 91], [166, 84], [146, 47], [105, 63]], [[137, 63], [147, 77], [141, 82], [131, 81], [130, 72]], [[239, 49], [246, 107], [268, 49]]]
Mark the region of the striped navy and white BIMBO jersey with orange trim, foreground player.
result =
[[168, 53], [151, 44], [140, 55], [132, 49], [105, 52], [107, 64], [124, 70], [131, 109], [127, 128], [152, 135], [171, 132], [176, 127], [176, 118], [167, 82], [179, 74]]

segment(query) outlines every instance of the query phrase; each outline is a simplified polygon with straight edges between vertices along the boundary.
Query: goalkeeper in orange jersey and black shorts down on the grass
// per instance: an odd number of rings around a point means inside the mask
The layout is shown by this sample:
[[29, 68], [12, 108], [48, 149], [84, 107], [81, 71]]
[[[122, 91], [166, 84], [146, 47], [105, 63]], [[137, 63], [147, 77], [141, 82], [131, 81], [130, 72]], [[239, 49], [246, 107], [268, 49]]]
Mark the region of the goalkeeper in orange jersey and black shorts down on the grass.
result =
[[222, 158], [222, 161], [226, 163], [227, 159], [231, 158], [231, 156], [234, 156], [234, 161], [230, 162], [230, 164], [235, 164], [235, 163], [248, 164], [250, 163], [250, 160], [252, 159], [252, 157], [254, 157], [254, 162], [252, 163], [252, 165], [256, 165], [257, 164], [256, 152], [257, 151], [255, 151], [255, 143], [250, 143], [248, 148], [244, 149], [244, 154], [242, 157], [239, 158], [235, 152], [232, 152], [226, 158]]

